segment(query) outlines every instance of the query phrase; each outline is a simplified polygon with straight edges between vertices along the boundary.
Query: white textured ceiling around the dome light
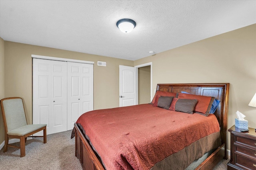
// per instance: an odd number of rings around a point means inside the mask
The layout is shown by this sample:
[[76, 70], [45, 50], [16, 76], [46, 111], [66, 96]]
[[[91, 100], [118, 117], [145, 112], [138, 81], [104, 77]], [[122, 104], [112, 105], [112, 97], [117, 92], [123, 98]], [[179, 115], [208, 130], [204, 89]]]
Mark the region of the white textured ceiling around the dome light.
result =
[[254, 23], [255, 0], [0, 0], [5, 41], [132, 61]]

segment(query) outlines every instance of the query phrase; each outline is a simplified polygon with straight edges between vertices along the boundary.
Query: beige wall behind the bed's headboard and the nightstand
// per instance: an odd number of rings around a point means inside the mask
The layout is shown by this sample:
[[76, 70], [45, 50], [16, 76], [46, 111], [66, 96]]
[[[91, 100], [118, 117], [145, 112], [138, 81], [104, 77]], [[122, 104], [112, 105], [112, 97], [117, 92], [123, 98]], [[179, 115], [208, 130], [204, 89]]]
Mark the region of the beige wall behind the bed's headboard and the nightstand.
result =
[[[236, 111], [256, 128], [256, 108], [248, 106], [256, 92], [256, 24], [134, 61], [152, 62], [157, 83], [229, 82], [228, 128]], [[230, 139], [230, 138], [229, 138]]]

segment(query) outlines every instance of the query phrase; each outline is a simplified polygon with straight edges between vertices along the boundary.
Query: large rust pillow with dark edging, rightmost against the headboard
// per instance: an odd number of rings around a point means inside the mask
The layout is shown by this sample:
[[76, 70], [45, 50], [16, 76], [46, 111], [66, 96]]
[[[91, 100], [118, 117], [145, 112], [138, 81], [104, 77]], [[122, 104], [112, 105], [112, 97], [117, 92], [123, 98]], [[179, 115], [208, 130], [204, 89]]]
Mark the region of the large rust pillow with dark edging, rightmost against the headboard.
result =
[[199, 95], [184, 94], [184, 93], [179, 93], [178, 98], [196, 99], [198, 102], [195, 106], [194, 112], [199, 113], [201, 115], [205, 115], [205, 116], [209, 115], [210, 108], [212, 107], [212, 103], [214, 101], [214, 97], [199, 96]]

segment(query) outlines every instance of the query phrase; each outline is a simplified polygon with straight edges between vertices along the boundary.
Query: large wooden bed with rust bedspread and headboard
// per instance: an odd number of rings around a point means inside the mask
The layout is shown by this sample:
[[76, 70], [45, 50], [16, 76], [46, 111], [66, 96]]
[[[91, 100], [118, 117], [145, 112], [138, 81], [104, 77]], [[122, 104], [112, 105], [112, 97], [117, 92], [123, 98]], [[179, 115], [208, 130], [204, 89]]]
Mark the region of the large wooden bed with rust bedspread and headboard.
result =
[[[73, 130], [76, 145], [75, 155], [80, 160], [83, 169], [155, 170], [177, 169], [177, 167], [185, 169], [188, 165], [191, 166], [190, 163], [194, 160], [198, 160], [201, 156], [204, 157], [205, 152], [209, 154], [208, 151], [210, 151], [210, 156], [207, 156], [199, 166], [196, 165], [197, 167], [192, 169], [212, 169], [221, 159], [227, 159], [229, 83], [158, 84], [156, 90], [157, 92], [177, 94], [172, 97], [172, 100], [176, 100], [176, 102], [187, 100], [185, 98], [180, 100], [182, 95], [186, 95], [181, 92], [186, 92], [190, 93], [187, 96], [193, 94], [204, 98], [211, 96], [211, 100], [217, 99], [220, 104], [214, 114], [208, 116], [201, 112], [198, 112], [200, 114], [188, 114], [188, 112], [154, 107], [156, 102], [87, 112], [74, 124]], [[158, 101], [158, 105], [163, 99], [160, 97], [158, 95], [154, 97]], [[189, 102], [192, 102], [191, 100]], [[195, 99], [193, 98], [193, 100]], [[178, 108], [177, 104], [174, 109]], [[199, 102], [197, 105], [195, 104], [196, 107], [198, 104]], [[198, 107], [198, 109], [200, 108]], [[126, 117], [118, 121], [117, 117], [121, 115]], [[167, 124], [161, 124], [164, 119], [167, 120]], [[203, 123], [195, 121], [200, 119]], [[86, 121], [89, 123], [85, 123]], [[93, 123], [93, 121], [97, 123]], [[101, 122], [100, 125], [98, 122]], [[132, 126], [129, 125], [129, 122], [132, 122]], [[191, 127], [198, 130], [192, 129], [187, 122], [192, 123]], [[205, 124], [206, 122], [210, 124]], [[129, 128], [127, 129], [127, 127]], [[202, 129], [200, 130], [199, 127]], [[136, 131], [136, 129], [139, 130]], [[104, 132], [102, 133], [102, 131]], [[172, 132], [170, 133], [170, 131]], [[197, 134], [196, 131], [200, 131], [200, 133]], [[164, 144], [160, 143], [162, 141]], [[209, 141], [213, 142], [209, 144]], [[206, 145], [207, 147], [202, 147]], [[195, 148], [199, 148], [199, 150]], [[180, 156], [184, 158], [180, 158]]]

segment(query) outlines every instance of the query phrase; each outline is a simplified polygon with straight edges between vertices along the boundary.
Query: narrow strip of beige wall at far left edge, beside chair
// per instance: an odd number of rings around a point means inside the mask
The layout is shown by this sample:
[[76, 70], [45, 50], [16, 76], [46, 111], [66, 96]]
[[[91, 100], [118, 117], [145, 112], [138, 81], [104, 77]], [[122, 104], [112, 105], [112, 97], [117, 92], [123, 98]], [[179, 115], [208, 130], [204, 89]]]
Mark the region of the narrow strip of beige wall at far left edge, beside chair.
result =
[[[0, 37], [0, 99], [4, 98], [4, 40]], [[0, 144], [4, 141], [4, 123], [0, 109]]]

